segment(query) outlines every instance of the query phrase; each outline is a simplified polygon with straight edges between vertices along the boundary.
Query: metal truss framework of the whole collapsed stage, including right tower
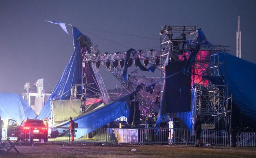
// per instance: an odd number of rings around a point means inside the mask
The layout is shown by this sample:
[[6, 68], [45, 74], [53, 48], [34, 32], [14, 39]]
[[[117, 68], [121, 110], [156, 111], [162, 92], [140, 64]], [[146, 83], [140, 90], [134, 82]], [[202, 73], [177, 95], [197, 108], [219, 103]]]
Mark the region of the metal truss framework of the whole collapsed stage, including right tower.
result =
[[[183, 60], [180, 59], [179, 56], [189, 57], [192, 53], [193, 49], [195, 49], [197, 45], [197, 37], [198, 30], [196, 26], [161, 26], [160, 30], [160, 49], [150, 49], [150, 50], [136, 50], [131, 52], [130, 59], [149, 59], [149, 64], [154, 65], [155, 59], [160, 59], [160, 63], [157, 66], [157, 69], [160, 70], [159, 77], [145, 77], [145, 76], [136, 76], [136, 75], [128, 75], [128, 81], [124, 81], [122, 77], [123, 70], [118, 67], [114, 67], [113, 62], [120, 62], [126, 58], [127, 52], [105, 52], [101, 53], [97, 46], [94, 46], [90, 40], [87, 39], [87, 36], [81, 36], [78, 40], [81, 41], [82, 46], [90, 47], [91, 51], [88, 52], [87, 49], [83, 51], [83, 62], [91, 62], [94, 68], [94, 73], [99, 74], [99, 78], [97, 78], [98, 82], [103, 83], [101, 75], [97, 68], [95, 67], [95, 63], [98, 62], [99, 66], [108, 70], [115, 76], [115, 78], [127, 89], [128, 92], [136, 89], [137, 86], [143, 84], [144, 87], [148, 85], [155, 86], [155, 91], [150, 94], [149, 92], [143, 89], [138, 93], [138, 101], [140, 103], [141, 109], [143, 110], [143, 115], [145, 116], [154, 116], [158, 113], [159, 104], [158, 100], [161, 99], [162, 93], [162, 77], [165, 76], [165, 72], [163, 69], [163, 63], [166, 61], [167, 56], [169, 55], [169, 61], [174, 60]], [[200, 61], [205, 63], [210, 63], [207, 66], [210, 66], [211, 76], [220, 76], [220, 67], [224, 62], [219, 61], [219, 53], [230, 51], [229, 46], [214, 46], [214, 45], [201, 45], [200, 51], [209, 51], [210, 55], [214, 58], [211, 61]], [[110, 66], [107, 68], [105, 62], [109, 61]], [[230, 98], [228, 96], [227, 89], [228, 87], [222, 87], [213, 85], [208, 82], [207, 85], [204, 85], [200, 82], [194, 83], [193, 80], [195, 75], [192, 75], [192, 85], [195, 84], [197, 93], [197, 113], [205, 115], [204, 122], [209, 124], [220, 123], [219, 120], [223, 120], [223, 127], [228, 126], [229, 118], [229, 110], [227, 109], [227, 100]], [[199, 86], [200, 85], [200, 86]], [[105, 99], [108, 99], [107, 91], [104, 89], [104, 84], [101, 88], [103, 91], [102, 96]], [[209, 99], [209, 100], [208, 100]], [[200, 107], [200, 108], [199, 108]], [[207, 113], [208, 111], [208, 113]], [[211, 116], [210, 116], [211, 114]], [[208, 118], [206, 118], [206, 116]]]

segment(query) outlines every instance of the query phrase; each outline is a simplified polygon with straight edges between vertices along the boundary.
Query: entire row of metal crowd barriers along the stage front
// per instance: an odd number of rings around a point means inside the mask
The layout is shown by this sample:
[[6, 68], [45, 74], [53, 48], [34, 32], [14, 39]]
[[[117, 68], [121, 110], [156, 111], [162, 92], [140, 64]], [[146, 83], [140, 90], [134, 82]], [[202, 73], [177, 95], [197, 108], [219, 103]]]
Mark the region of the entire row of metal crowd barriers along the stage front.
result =
[[[22, 131], [22, 130], [21, 130]], [[48, 128], [47, 134], [39, 134], [36, 128], [20, 133], [24, 143], [196, 143], [194, 129], [156, 129], [156, 128], [75, 128], [72, 135], [69, 128]], [[255, 133], [238, 133], [238, 146], [255, 146]], [[74, 137], [74, 139], [72, 138]], [[2, 140], [6, 140], [7, 128], [3, 128]], [[16, 141], [16, 137], [9, 137]], [[71, 138], [73, 141], [71, 141]], [[202, 142], [211, 145], [229, 146], [229, 132], [202, 130]]]

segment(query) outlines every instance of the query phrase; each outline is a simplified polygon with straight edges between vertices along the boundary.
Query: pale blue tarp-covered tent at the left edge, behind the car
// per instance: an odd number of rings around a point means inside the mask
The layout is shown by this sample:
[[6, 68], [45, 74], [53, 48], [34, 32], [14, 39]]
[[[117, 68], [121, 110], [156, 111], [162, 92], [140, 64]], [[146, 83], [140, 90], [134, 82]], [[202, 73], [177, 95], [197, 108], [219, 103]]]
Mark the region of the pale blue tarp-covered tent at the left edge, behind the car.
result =
[[37, 114], [17, 93], [0, 93], [0, 116], [2, 120], [13, 119], [19, 124], [26, 118], [34, 119]]

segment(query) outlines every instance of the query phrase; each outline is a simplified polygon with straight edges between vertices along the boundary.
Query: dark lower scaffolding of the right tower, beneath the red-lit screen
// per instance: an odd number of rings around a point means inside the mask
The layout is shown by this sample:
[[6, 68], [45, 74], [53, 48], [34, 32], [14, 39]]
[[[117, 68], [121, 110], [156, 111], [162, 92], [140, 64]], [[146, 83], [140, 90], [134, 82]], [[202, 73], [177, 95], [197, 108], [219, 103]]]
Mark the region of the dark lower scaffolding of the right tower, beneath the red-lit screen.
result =
[[218, 130], [230, 130], [231, 96], [228, 86], [197, 84], [195, 90], [196, 114], [201, 116], [201, 122], [206, 125], [204, 128], [215, 126]]

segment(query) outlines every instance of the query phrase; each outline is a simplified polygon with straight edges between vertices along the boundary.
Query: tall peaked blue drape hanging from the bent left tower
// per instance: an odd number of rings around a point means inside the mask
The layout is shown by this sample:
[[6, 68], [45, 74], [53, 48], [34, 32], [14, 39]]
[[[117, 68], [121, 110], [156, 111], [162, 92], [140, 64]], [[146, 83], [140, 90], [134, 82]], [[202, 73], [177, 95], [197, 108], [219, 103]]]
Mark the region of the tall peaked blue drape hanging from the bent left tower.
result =
[[[89, 88], [86, 90], [85, 92], [85, 97], [86, 95], [96, 95], [95, 91], [99, 91], [99, 87], [98, 87], [98, 83], [97, 80], [95, 79], [95, 75], [92, 72], [92, 67], [90, 65], [90, 63], [83, 63], [82, 66], [82, 59], [81, 59], [81, 45], [80, 42], [78, 41], [78, 38], [81, 37], [83, 34], [76, 28], [73, 28], [73, 38], [74, 38], [74, 52], [64, 70], [64, 72], [62, 73], [57, 85], [55, 86], [51, 96], [49, 97], [49, 99], [47, 100], [47, 102], [45, 103], [45, 105], [43, 106], [43, 109], [41, 110], [39, 116], [37, 117], [37, 119], [44, 119], [45, 117], [50, 118], [51, 116], [51, 100], [54, 101], [61, 101], [61, 100], [69, 100], [71, 99], [71, 92], [72, 92], [72, 86], [74, 85], [78, 85], [76, 86], [76, 91], [77, 93], [79, 93], [80, 95], [77, 95], [77, 99], [81, 99], [82, 96], [82, 91], [83, 91], [83, 85], [82, 85], [82, 81], [84, 80], [84, 78], [86, 78], [86, 84], [90, 85], [91, 89]], [[88, 38], [88, 37], [87, 37]], [[88, 38], [88, 40], [90, 40]], [[84, 47], [83, 47], [84, 48]], [[90, 47], [86, 46], [85, 47], [86, 51], [90, 52]], [[86, 74], [86, 76], [89, 77], [85, 77], [82, 76], [82, 72], [84, 72], [84, 74]], [[83, 74], [83, 75], [84, 75]], [[79, 103], [79, 101], [74, 101], [74, 103], [72, 103], [76, 106], [76, 110], [77, 108], [80, 108], [81, 105], [81, 101]], [[56, 110], [56, 109], [55, 109]], [[75, 112], [77, 113], [77, 112]], [[63, 113], [64, 114], [64, 113]], [[78, 115], [72, 115], [73, 117], [78, 116]], [[62, 118], [60, 118], [60, 120], [58, 121], [65, 121], [68, 120], [68, 117], [70, 117], [69, 113], [65, 113], [65, 116], [63, 116]]]

